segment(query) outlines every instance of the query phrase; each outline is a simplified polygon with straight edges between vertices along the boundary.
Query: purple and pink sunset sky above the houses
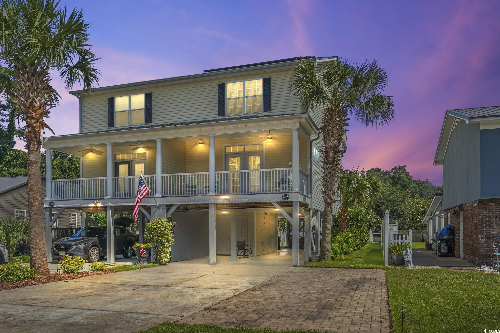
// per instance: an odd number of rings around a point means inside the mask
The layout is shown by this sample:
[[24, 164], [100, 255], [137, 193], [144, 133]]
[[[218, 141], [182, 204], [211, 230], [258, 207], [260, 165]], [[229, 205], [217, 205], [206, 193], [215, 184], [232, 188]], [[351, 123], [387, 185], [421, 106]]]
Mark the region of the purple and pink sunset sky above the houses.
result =
[[[91, 22], [100, 86], [303, 55], [378, 59], [396, 116], [378, 128], [351, 121], [347, 167], [406, 164], [413, 178], [440, 185], [432, 161], [444, 111], [500, 105], [499, 1], [62, 3]], [[63, 100], [47, 123], [76, 133], [78, 101], [53, 78]]]

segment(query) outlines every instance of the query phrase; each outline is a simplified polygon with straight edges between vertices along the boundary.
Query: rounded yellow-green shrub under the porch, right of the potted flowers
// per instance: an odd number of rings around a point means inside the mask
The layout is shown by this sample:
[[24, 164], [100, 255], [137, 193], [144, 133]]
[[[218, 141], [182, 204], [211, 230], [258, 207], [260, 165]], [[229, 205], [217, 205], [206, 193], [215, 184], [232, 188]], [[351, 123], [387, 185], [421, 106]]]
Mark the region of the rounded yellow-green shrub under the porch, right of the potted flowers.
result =
[[162, 218], [152, 219], [151, 222], [146, 224], [144, 239], [157, 248], [156, 261], [160, 265], [166, 265], [170, 260], [174, 225], [175, 222]]

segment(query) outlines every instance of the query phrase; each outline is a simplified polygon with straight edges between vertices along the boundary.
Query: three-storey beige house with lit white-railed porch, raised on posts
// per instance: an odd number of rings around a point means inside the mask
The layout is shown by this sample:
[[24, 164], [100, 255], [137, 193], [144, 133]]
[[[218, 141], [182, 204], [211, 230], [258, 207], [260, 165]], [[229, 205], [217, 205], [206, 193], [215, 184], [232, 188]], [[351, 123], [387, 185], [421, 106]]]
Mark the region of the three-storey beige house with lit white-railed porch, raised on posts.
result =
[[[297, 60], [70, 92], [80, 101], [80, 131], [44, 138], [43, 146], [80, 156], [80, 179], [47, 182], [46, 211], [131, 214], [143, 174], [151, 193], [142, 201], [139, 239], [144, 221], [171, 215], [172, 261], [235, 259], [236, 241], [254, 256], [277, 251], [279, 217], [294, 230], [304, 220], [305, 242], [318, 249], [310, 230], [324, 206], [322, 140], [313, 141], [322, 114], [302, 110], [289, 89]], [[293, 241], [298, 264], [298, 232]]]

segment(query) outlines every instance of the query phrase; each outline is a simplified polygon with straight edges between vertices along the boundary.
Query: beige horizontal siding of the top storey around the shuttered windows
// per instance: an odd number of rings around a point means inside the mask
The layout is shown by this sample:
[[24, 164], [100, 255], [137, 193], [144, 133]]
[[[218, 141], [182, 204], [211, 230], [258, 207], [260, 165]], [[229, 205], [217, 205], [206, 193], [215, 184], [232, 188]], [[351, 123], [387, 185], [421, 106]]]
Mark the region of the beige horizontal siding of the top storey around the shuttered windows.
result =
[[210, 78], [187, 83], [140, 86], [127, 90], [91, 93], [82, 96], [82, 132], [112, 129], [107, 127], [107, 98], [128, 93], [152, 92], [152, 124], [219, 118], [217, 84], [227, 81], [271, 77], [271, 110], [262, 114], [301, 112], [298, 97], [288, 89], [290, 70]]

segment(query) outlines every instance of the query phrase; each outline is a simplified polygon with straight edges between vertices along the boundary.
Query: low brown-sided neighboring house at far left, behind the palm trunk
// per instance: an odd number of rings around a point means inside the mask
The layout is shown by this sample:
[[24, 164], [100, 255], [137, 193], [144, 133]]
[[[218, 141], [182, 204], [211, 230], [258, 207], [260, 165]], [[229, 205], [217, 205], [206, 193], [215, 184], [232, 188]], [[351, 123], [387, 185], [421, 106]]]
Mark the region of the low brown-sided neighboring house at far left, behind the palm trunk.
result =
[[[27, 176], [24, 177], [1, 177], [0, 178], [0, 219], [18, 218], [28, 219], [28, 185]], [[45, 197], [45, 177], [41, 178], [41, 195]], [[59, 210], [54, 209], [52, 214]], [[80, 228], [80, 212], [74, 209], [66, 209], [55, 220], [53, 227]]]

